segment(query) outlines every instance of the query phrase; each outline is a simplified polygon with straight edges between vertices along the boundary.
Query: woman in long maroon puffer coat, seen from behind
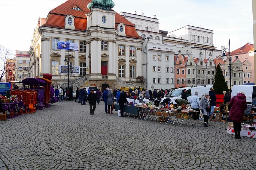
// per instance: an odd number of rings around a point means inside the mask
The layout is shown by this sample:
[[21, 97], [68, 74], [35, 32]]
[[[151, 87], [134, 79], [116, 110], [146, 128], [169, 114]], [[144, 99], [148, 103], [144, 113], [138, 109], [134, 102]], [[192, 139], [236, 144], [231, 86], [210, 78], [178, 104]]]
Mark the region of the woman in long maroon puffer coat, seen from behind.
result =
[[241, 122], [243, 121], [244, 117], [244, 110], [246, 110], [246, 96], [244, 92], [237, 93], [236, 96], [231, 98], [228, 106], [230, 106], [229, 118], [233, 120], [234, 131], [235, 131], [235, 138], [241, 139], [240, 132], [241, 132]]

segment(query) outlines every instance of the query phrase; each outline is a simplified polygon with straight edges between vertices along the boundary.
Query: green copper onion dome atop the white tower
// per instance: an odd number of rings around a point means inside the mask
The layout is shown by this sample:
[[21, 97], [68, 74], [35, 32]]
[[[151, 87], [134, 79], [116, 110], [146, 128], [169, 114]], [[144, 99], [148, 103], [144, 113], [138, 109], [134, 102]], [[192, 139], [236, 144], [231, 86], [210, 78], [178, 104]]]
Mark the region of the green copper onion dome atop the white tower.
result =
[[115, 6], [112, 0], [93, 0], [87, 5], [88, 9], [100, 8], [102, 10], [111, 10]]

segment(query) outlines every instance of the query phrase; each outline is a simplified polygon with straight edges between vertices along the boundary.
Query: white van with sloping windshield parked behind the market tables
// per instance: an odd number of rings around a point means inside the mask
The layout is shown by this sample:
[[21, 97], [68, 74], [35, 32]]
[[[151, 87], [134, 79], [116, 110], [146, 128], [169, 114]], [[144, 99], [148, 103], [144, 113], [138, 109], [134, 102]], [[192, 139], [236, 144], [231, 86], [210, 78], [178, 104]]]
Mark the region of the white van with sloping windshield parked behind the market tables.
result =
[[198, 92], [198, 97], [201, 98], [202, 95], [205, 92], [209, 92], [210, 88], [212, 88], [212, 86], [197, 86], [197, 87], [182, 87], [182, 88], [178, 88], [173, 90], [169, 95], [167, 95], [166, 97], [162, 98], [161, 103], [163, 102], [164, 99], [166, 98], [170, 98], [171, 99], [171, 103], [172, 104], [177, 104], [174, 100], [181, 98], [181, 92], [183, 89], [186, 89], [186, 95], [187, 95], [187, 100], [188, 103], [190, 103], [190, 98], [191, 96], [193, 96], [195, 94], [195, 92]]

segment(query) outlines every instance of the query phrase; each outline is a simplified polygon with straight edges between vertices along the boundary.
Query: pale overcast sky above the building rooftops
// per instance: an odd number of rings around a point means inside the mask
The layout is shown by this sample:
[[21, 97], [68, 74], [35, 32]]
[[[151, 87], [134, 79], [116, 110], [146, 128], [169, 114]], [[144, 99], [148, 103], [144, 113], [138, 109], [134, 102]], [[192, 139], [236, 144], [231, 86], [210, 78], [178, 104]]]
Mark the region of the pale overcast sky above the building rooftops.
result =
[[[66, 0], [0, 1], [0, 45], [12, 50], [29, 51], [38, 17], [46, 18], [50, 10]], [[191, 25], [213, 30], [217, 49], [227, 46], [234, 51], [247, 42], [253, 44], [251, 0], [113, 0], [117, 13], [156, 15], [159, 29], [174, 31]], [[157, 2], [157, 3], [156, 3]]]

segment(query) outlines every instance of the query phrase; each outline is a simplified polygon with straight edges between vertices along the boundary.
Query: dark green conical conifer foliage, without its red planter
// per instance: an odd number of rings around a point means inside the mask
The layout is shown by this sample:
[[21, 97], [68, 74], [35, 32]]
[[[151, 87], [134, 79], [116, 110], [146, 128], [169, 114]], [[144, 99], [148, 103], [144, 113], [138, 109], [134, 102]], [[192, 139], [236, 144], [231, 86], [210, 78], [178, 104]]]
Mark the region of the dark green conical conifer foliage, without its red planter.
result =
[[228, 91], [228, 87], [220, 65], [217, 65], [216, 74], [214, 77], [213, 89], [215, 94], [223, 94], [223, 91]]

